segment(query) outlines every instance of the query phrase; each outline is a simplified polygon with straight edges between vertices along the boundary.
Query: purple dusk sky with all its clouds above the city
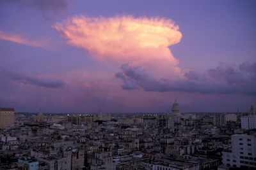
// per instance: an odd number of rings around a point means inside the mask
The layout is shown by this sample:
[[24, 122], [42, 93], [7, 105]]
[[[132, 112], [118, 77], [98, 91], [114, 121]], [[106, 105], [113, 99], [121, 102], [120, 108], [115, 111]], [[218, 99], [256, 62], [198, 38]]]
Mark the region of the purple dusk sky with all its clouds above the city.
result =
[[256, 107], [255, 1], [0, 1], [0, 107]]

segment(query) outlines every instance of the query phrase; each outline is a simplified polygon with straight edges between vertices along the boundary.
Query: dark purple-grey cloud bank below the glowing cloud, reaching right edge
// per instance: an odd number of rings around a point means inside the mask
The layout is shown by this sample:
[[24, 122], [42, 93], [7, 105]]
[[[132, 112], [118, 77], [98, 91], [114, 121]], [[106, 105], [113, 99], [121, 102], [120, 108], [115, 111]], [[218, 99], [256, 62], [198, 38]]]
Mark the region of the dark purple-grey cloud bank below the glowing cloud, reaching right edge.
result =
[[124, 81], [122, 89], [145, 91], [199, 92], [208, 94], [243, 93], [256, 95], [256, 62], [244, 62], [239, 67], [221, 62], [204, 73], [189, 71], [179, 80], [157, 80], [147, 69], [124, 64], [116, 78]]

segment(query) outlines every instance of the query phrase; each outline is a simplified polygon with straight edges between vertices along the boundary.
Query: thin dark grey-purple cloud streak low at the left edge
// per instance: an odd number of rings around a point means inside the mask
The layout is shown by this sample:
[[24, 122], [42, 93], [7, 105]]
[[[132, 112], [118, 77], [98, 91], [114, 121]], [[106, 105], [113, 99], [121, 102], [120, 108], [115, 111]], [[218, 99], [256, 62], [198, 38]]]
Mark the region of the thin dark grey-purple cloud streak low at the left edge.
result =
[[65, 85], [65, 83], [63, 83], [63, 81], [61, 80], [31, 77], [31, 76], [18, 74], [18, 73], [13, 73], [6, 70], [1, 71], [0, 74], [8, 78], [12, 78], [12, 80], [15, 80], [14, 83], [17, 83], [19, 85], [36, 85], [36, 86], [47, 87], [47, 88], [61, 88], [61, 87], [64, 87]]

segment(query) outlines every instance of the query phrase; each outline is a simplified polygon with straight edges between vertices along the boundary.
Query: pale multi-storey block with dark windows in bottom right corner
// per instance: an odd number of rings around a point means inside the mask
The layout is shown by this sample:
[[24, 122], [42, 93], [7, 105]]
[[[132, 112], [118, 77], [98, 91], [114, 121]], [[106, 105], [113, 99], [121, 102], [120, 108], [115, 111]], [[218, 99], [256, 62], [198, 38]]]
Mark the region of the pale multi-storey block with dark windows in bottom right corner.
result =
[[222, 162], [230, 167], [256, 168], [256, 134], [231, 136], [231, 152], [223, 152]]

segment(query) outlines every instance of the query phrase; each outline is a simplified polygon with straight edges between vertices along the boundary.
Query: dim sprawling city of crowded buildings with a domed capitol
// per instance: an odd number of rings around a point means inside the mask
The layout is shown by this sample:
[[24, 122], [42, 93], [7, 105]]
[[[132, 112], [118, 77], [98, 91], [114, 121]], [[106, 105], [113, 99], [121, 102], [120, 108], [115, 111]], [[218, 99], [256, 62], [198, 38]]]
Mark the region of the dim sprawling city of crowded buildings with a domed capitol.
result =
[[14, 113], [1, 169], [255, 169], [256, 113]]

